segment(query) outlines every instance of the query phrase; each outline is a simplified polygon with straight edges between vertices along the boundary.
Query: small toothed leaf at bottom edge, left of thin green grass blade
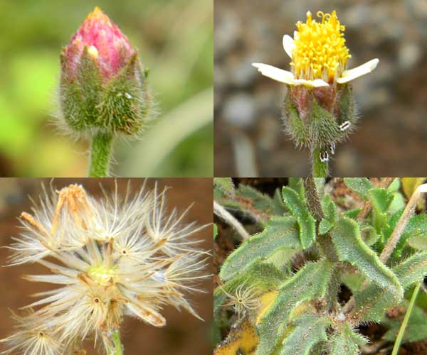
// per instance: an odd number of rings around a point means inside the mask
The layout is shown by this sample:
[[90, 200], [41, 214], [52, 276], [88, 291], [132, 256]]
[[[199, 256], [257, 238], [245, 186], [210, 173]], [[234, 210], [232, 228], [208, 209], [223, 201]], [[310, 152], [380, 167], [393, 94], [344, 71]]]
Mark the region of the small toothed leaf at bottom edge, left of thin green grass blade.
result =
[[359, 346], [367, 343], [361, 334], [354, 333], [348, 324], [330, 338], [330, 355], [359, 355]]

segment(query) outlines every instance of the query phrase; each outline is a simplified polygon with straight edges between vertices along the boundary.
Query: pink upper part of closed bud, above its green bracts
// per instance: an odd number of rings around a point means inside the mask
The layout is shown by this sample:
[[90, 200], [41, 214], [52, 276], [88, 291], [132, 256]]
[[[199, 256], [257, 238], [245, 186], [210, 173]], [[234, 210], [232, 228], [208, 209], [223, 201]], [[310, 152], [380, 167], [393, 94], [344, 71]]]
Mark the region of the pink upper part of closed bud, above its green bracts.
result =
[[76, 67], [85, 47], [88, 48], [89, 55], [97, 61], [105, 79], [116, 75], [136, 53], [126, 35], [97, 6], [65, 48], [70, 78], [75, 76]]

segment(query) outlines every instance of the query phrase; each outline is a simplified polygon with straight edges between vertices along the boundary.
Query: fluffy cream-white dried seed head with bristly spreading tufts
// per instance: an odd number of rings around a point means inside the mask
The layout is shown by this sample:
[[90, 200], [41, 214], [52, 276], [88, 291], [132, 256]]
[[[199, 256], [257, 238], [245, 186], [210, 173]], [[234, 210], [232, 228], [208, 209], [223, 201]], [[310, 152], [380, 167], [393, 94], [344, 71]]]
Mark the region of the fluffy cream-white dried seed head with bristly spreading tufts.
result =
[[[144, 187], [134, 197], [129, 188], [120, 197], [116, 187], [112, 196], [105, 193], [100, 200], [80, 185], [45, 190], [33, 214], [21, 214], [24, 231], [9, 247], [14, 252], [10, 263], [45, 266], [50, 274], [24, 278], [58, 288], [35, 295], [40, 299], [27, 306], [35, 311], [19, 319], [40, 329], [43, 337], [36, 330], [19, 330], [5, 339], [11, 350], [39, 344], [28, 354], [63, 354], [47, 352], [43, 346], [56, 339], [58, 349], [68, 351], [88, 336], [95, 342], [101, 339], [108, 349], [110, 334], [120, 328], [125, 315], [163, 327], [164, 305], [199, 317], [186, 294], [200, 291], [199, 280], [208, 277], [206, 251], [189, 239], [203, 227], [187, 226], [184, 216], [175, 210], [168, 215], [164, 205], [164, 192], [159, 195]], [[159, 224], [156, 236], [147, 222], [153, 216]], [[48, 338], [52, 329], [54, 337]]]

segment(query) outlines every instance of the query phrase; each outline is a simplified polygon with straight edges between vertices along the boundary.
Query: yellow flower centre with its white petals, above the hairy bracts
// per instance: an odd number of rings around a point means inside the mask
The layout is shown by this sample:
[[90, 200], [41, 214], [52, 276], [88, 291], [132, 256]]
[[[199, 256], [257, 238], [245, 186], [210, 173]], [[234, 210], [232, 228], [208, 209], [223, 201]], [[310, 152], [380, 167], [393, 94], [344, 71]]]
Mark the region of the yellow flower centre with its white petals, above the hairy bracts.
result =
[[253, 66], [265, 77], [292, 86], [306, 87], [345, 84], [376, 68], [379, 62], [377, 58], [347, 70], [347, 60], [351, 55], [345, 45], [345, 26], [339, 23], [336, 11], [331, 14], [318, 11], [317, 16], [322, 18], [321, 22], [313, 20], [308, 11], [307, 22], [297, 22], [294, 38], [283, 36], [283, 48], [292, 59], [292, 71], [263, 63], [253, 63]]

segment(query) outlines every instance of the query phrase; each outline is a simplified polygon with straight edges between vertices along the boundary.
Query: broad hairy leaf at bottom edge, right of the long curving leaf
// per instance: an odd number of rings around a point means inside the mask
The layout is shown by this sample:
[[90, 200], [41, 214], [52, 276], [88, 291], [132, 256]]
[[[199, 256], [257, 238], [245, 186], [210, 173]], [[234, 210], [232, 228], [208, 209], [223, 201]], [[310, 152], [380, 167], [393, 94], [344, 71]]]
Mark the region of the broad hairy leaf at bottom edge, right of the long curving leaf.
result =
[[330, 319], [317, 315], [302, 315], [287, 329], [280, 355], [309, 355], [319, 342], [327, 340], [326, 328]]

